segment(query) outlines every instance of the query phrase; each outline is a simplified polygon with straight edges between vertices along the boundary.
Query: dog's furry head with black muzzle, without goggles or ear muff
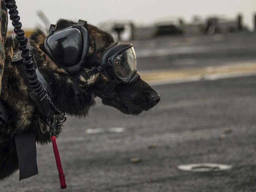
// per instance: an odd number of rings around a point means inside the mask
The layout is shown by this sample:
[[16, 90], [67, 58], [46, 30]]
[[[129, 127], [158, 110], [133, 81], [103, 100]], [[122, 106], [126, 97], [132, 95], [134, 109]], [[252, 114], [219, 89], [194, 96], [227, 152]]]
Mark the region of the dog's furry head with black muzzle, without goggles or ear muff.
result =
[[[69, 20], [59, 20], [56, 31], [72, 26], [75, 23]], [[101, 65], [103, 52], [113, 44], [113, 38], [97, 27], [87, 25], [89, 35], [88, 53], [85, 57], [82, 70], [88, 72]], [[53, 87], [53, 100], [64, 112], [73, 115], [85, 115], [94, 105], [94, 98], [102, 94], [103, 90], [113, 82], [102, 72], [92, 75], [88, 80], [79, 77], [79, 86], [82, 94], [75, 95], [71, 74], [54, 63], [45, 53], [43, 46], [46, 35], [42, 31], [35, 31], [31, 35], [31, 44], [34, 46], [35, 59], [45, 79]], [[131, 84], [118, 84], [108, 97], [102, 98], [105, 105], [112, 106], [126, 114], [139, 114], [155, 106], [160, 96], [142, 79]]]

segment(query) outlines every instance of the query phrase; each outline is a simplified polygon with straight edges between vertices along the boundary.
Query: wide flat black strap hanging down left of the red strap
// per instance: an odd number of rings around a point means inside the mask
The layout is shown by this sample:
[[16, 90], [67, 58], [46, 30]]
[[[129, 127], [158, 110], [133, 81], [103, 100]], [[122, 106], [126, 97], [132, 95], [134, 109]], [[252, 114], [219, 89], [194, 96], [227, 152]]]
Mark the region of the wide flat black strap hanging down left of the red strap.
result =
[[19, 161], [19, 180], [38, 174], [35, 135], [15, 135], [15, 146]]

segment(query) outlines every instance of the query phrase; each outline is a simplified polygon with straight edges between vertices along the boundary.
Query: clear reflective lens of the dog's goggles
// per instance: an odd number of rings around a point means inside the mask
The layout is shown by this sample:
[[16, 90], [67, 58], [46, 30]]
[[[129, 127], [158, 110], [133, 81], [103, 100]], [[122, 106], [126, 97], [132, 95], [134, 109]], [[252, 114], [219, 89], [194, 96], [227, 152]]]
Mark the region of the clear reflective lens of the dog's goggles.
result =
[[128, 81], [136, 70], [136, 56], [133, 47], [119, 53], [114, 59], [114, 69], [117, 76]]

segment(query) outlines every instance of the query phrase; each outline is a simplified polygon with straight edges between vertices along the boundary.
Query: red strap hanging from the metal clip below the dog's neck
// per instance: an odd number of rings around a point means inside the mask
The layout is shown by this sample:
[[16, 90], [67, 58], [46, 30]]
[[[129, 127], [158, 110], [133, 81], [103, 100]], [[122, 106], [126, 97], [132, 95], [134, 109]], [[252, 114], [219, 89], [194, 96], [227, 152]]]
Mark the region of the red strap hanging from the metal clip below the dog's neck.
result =
[[60, 162], [60, 154], [58, 151], [56, 138], [55, 138], [55, 136], [51, 136], [50, 138], [52, 140], [53, 152], [54, 152], [54, 156], [55, 156], [55, 160], [56, 160], [57, 169], [59, 172], [60, 188], [65, 189], [65, 188], [67, 188], [67, 185], [66, 185], [66, 181], [65, 181], [65, 175], [63, 173], [63, 169], [62, 169], [61, 162]]

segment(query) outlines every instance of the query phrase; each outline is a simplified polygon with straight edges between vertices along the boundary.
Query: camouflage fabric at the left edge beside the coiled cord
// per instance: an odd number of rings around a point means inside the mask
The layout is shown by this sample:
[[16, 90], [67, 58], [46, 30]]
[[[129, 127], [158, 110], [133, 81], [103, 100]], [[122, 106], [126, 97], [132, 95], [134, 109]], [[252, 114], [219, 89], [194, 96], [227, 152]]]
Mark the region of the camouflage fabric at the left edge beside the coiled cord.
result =
[[1, 0], [0, 4], [0, 93], [2, 88], [2, 76], [4, 70], [4, 42], [7, 35], [7, 23], [8, 23], [8, 15], [7, 8], [5, 7], [4, 0]]

